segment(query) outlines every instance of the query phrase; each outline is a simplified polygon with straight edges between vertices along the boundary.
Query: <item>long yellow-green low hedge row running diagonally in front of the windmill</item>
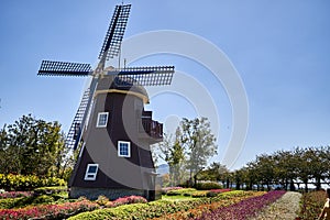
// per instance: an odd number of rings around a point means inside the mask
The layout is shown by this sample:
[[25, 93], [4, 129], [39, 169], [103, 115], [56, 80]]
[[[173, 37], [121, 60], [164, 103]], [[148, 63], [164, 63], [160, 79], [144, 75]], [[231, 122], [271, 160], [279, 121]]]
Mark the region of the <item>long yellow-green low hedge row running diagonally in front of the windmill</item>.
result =
[[[148, 204], [135, 204], [128, 206], [120, 206], [117, 208], [106, 208], [99, 209], [91, 212], [84, 212], [77, 216], [69, 218], [69, 220], [78, 220], [78, 219], [153, 219], [160, 218], [166, 213], [175, 213], [178, 211], [187, 211], [195, 207], [217, 202], [223, 200], [226, 198], [240, 197], [252, 195], [251, 191], [235, 191], [228, 193], [229, 195], [212, 198], [200, 198], [196, 200], [182, 200], [182, 201], [169, 201], [169, 200], [157, 200]], [[224, 194], [223, 194], [224, 195]]]

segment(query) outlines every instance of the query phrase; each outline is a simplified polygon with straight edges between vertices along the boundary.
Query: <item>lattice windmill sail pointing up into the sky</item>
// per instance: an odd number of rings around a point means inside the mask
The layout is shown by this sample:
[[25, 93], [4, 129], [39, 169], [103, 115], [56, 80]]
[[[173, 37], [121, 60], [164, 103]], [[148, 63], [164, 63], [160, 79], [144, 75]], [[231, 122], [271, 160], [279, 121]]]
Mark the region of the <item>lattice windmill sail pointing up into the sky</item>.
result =
[[101, 48], [99, 59], [109, 59], [118, 56], [120, 44], [127, 28], [131, 4], [117, 6]]

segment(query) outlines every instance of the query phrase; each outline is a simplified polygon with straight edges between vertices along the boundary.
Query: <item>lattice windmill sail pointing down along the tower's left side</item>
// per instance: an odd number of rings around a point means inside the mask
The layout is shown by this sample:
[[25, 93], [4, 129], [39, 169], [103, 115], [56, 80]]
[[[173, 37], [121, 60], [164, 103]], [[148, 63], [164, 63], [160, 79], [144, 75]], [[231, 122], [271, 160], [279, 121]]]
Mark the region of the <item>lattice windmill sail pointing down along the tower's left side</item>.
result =
[[87, 89], [84, 92], [81, 102], [79, 105], [77, 113], [74, 118], [74, 121], [73, 121], [72, 127], [69, 129], [69, 132], [67, 134], [67, 138], [65, 140], [65, 145], [69, 148], [74, 148], [74, 150], [77, 148], [79, 138], [80, 138], [80, 134], [81, 134], [81, 129], [80, 129], [81, 127], [80, 125], [82, 123], [82, 119], [84, 119], [84, 116], [85, 116], [85, 112], [86, 112], [86, 109], [87, 109], [87, 106], [88, 106], [89, 90], [90, 89]]

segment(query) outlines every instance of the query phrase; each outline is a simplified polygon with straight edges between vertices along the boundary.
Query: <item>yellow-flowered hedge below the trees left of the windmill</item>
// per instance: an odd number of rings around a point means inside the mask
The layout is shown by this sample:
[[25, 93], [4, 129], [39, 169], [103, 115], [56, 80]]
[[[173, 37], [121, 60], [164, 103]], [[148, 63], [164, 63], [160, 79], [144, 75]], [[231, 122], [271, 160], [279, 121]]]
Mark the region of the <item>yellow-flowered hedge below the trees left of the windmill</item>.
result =
[[37, 187], [45, 186], [65, 186], [66, 182], [56, 177], [40, 178], [35, 175], [14, 175], [14, 174], [0, 174], [0, 188], [8, 191], [12, 190], [32, 190]]

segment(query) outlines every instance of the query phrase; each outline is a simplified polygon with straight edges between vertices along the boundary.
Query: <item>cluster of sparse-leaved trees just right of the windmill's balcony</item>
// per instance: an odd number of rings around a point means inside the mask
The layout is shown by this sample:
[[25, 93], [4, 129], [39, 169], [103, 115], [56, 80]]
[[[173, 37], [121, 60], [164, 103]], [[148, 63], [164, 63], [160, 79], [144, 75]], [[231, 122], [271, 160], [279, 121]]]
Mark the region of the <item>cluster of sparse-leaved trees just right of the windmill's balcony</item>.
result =
[[[153, 151], [154, 155], [168, 164], [170, 186], [183, 184], [187, 170], [190, 184], [193, 184], [193, 178], [197, 177], [197, 174], [200, 175], [201, 169], [207, 166], [208, 158], [216, 155], [215, 142], [216, 138], [211, 133], [210, 122], [207, 118], [183, 119], [175, 135], [165, 134], [163, 142], [157, 144]], [[211, 169], [213, 173], [210, 175], [217, 179], [220, 172], [218, 169], [221, 167], [211, 167]], [[204, 179], [202, 175], [200, 176], [199, 179]]]

